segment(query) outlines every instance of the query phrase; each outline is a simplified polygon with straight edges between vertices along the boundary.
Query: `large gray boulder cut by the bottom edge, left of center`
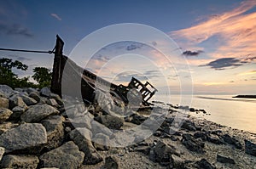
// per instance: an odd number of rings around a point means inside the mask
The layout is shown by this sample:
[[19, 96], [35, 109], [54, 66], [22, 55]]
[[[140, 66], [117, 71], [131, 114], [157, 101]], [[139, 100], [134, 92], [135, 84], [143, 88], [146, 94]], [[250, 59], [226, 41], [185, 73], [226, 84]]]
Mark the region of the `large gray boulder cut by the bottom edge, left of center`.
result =
[[39, 157], [42, 167], [57, 167], [61, 169], [79, 168], [84, 160], [84, 153], [72, 141], [50, 150]]

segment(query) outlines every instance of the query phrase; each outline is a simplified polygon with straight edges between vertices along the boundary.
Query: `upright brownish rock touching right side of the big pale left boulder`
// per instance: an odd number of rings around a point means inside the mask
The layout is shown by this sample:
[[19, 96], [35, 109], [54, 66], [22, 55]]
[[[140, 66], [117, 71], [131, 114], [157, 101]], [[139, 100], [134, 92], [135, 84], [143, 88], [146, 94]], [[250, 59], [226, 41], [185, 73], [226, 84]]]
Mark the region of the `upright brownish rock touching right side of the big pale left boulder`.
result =
[[65, 118], [61, 115], [52, 115], [41, 121], [47, 132], [46, 149], [55, 149], [59, 147], [64, 139], [64, 128], [62, 122]]

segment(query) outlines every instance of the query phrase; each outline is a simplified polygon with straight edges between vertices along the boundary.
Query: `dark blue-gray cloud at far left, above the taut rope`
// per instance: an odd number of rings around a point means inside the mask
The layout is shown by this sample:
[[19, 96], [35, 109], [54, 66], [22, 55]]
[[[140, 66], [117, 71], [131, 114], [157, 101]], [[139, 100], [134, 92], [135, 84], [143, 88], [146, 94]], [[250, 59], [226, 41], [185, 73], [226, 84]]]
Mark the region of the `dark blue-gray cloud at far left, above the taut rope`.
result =
[[0, 32], [3, 32], [7, 35], [20, 35], [24, 37], [33, 37], [32, 32], [29, 31], [28, 28], [19, 24], [7, 25], [7, 24], [0, 23]]

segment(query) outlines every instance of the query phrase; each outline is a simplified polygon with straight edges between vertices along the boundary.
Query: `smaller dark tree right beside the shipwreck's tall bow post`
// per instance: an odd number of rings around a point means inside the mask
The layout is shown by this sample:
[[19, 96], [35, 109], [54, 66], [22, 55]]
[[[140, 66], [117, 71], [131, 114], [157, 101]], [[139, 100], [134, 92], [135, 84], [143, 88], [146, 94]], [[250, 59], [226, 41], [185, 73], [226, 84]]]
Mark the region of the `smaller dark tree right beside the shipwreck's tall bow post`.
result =
[[51, 70], [45, 67], [35, 67], [33, 69], [34, 75], [32, 78], [38, 82], [38, 87], [49, 87], [51, 82]]

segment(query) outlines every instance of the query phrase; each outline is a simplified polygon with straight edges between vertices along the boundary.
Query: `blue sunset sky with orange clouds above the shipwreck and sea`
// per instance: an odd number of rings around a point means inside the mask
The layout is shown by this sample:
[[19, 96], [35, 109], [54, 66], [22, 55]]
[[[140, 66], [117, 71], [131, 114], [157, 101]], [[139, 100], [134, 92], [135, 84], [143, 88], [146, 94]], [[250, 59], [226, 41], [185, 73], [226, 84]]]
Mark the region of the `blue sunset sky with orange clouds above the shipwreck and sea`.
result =
[[[125, 23], [145, 28], [104, 31]], [[142, 41], [126, 38], [90, 54], [119, 32]], [[49, 51], [57, 34], [65, 55], [111, 82], [125, 84], [136, 76], [163, 93], [166, 88], [190, 93], [192, 87], [194, 94], [256, 94], [253, 0], [0, 1], [0, 48]], [[85, 45], [88, 36], [94, 46]], [[6, 51], [0, 57], [29, 65], [26, 72], [15, 70], [19, 76], [32, 76], [37, 66], [51, 69], [54, 59], [53, 54]]]

